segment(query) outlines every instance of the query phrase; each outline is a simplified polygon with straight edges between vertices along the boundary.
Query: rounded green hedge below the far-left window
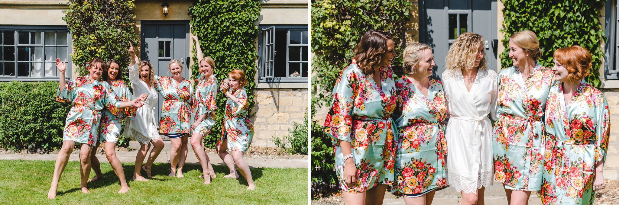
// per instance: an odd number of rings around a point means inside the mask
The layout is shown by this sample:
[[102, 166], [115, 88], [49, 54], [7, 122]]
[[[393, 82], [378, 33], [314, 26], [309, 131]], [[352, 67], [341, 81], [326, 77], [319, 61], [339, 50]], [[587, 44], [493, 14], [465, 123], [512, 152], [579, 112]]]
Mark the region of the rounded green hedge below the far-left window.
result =
[[63, 143], [71, 106], [56, 102], [57, 82], [0, 83], [0, 146], [49, 152]]

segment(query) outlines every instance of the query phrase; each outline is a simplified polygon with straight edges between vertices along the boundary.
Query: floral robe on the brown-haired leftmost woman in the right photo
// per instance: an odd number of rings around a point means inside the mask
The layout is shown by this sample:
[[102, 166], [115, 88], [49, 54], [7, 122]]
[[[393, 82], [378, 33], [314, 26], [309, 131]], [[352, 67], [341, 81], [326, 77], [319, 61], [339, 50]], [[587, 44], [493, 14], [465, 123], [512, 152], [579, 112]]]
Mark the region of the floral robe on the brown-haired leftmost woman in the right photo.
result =
[[[396, 108], [396, 85], [391, 67], [381, 67], [380, 87], [366, 78], [353, 59], [333, 88], [332, 106], [324, 120], [324, 132], [333, 139], [335, 172], [342, 191], [361, 193], [394, 181], [396, 124], [391, 113]], [[348, 187], [340, 141], [351, 144], [358, 180]]]

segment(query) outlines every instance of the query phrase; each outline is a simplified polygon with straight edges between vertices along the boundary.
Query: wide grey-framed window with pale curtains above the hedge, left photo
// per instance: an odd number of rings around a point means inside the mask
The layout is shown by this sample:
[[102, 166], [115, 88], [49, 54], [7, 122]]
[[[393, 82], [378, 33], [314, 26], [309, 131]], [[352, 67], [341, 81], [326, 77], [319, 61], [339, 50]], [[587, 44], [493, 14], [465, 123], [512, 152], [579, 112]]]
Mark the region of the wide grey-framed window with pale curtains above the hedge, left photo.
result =
[[58, 77], [56, 58], [69, 61], [69, 33], [0, 28], [0, 78]]

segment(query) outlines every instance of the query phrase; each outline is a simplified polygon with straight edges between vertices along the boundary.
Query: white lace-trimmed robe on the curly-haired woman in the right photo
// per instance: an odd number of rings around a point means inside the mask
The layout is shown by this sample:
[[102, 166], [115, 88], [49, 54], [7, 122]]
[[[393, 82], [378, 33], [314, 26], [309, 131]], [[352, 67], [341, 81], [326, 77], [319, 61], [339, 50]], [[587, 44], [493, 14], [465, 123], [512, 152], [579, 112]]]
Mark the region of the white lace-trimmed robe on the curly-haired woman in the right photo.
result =
[[461, 70], [446, 70], [443, 87], [449, 111], [445, 129], [448, 182], [457, 191], [475, 193], [493, 182], [492, 123], [498, 95], [494, 70], [480, 70], [470, 91]]

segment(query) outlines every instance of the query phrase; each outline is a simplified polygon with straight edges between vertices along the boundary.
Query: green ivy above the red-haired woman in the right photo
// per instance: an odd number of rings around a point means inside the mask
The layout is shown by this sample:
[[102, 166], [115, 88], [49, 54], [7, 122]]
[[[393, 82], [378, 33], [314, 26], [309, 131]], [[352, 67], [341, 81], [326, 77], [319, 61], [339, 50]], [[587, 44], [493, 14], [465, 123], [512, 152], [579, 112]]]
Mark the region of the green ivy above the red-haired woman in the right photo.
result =
[[[508, 48], [509, 37], [517, 31], [530, 30], [537, 34], [542, 48], [540, 64], [552, 67], [553, 54], [556, 49], [568, 46], [582, 46], [593, 56], [592, 68], [587, 82], [599, 87], [602, 66], [602, 42], [604, 30], [599, 17], [606, 1], [603, 0], [569, 0], [569, 1], [515, 1], [503, 0], [503, 46]], [[512, 66], [509, 49], [499, 56], [501, 67]]]

